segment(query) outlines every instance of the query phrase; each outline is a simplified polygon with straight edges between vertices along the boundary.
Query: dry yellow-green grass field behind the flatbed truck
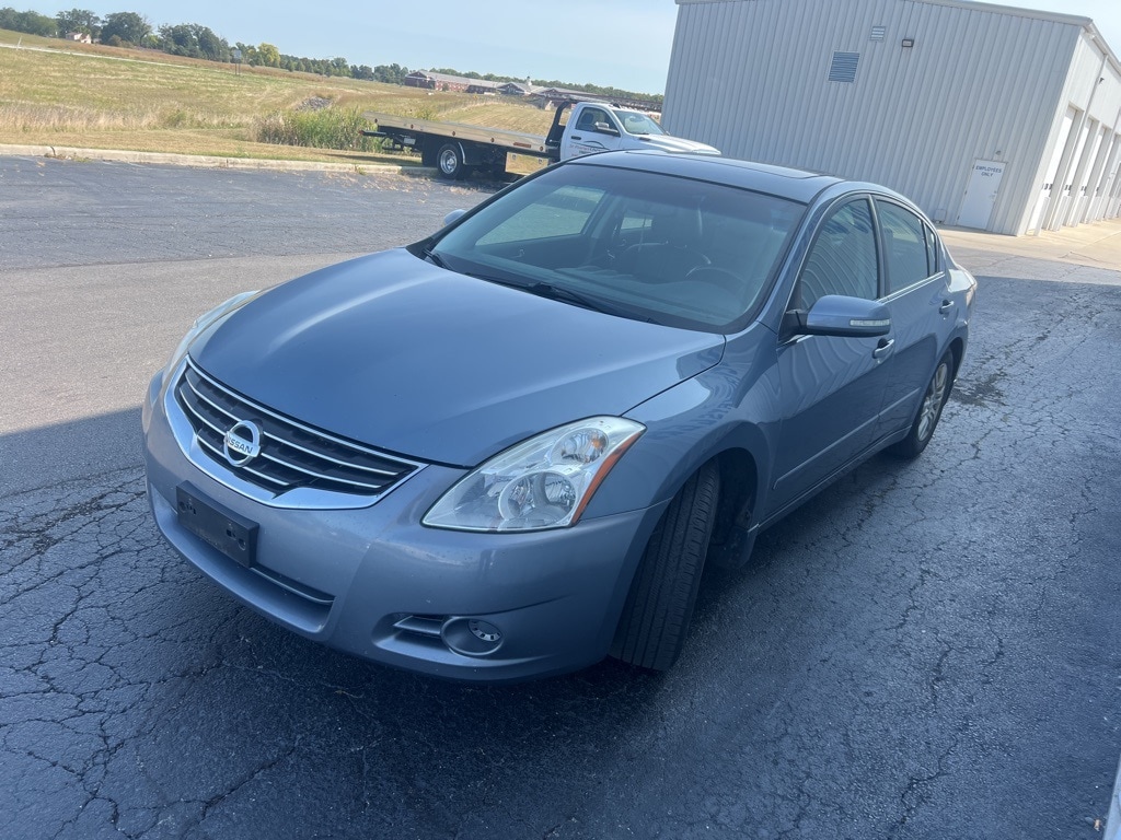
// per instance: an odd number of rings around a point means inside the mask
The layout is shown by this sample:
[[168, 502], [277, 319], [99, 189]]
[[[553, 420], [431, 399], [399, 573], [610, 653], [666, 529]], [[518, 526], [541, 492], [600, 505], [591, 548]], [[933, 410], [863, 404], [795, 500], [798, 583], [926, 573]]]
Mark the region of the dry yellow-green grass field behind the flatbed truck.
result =
[[[18, 45], [18, 46], [17, 46]], [[552, 115], [516, 101], [86, 46], [0, 30], [0, 143], [238, 158], [409, 162], [257, 140], [270, 114], [308, 102], [544, 134]]]

